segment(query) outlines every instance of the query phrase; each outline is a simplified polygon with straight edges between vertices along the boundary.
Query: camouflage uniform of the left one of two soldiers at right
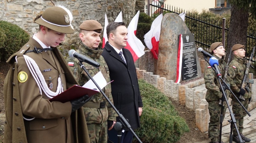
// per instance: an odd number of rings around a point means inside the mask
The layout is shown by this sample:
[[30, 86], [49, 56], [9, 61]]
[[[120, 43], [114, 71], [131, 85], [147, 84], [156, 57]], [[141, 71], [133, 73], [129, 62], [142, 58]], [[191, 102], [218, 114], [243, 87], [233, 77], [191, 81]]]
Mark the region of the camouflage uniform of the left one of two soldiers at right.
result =
[[[218, 59], [218, 68], [221, 72], [221, 75], [224, 75], [224, 69], [227, 63], [223, 59], [219, 58], [215, 54], [214, 57]], [[221, 106], [219, 105], [219, 99], [222, 97], [220, 91], [220, 84], [217, 78], [215, 71], [211, 68], [209, 64], [206, 64], [205, 73], [204, 73], [205, 87], [207, 88], [206, 92], [206, 101], [208, 102], [208, 109], [210, 113], [210, 122], [208, 127], [208, 136], [212, 142], [218, 142], [219, 132], [220, 132], [220, 116], [221, 116]], [[226, 81], [227, 82], [227, 81]], [[226, 95], [228, 96], [228, 95]], [[225, 117], [227, 103], [223, 102], [223, 117]]]

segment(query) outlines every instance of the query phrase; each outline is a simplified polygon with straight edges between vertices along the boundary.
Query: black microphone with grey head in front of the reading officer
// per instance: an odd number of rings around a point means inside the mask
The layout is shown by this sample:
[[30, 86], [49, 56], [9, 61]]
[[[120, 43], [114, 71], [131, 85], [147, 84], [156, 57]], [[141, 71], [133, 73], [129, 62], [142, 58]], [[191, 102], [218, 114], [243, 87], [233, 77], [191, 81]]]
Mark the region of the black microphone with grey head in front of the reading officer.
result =
[[73, 49], [69, 50], [69, 56], [70, 57], [75, 57], [75, 58], [77, 58], [81, 62], [86, 62], [86, 63], [92, 65], [93, 67], [99, 67], [100, 66], [100, 64], [98, 62], [93, 61], [92, 59], [89, 59], [89, 58], [87, 58], [87, 57], [77, 53]]

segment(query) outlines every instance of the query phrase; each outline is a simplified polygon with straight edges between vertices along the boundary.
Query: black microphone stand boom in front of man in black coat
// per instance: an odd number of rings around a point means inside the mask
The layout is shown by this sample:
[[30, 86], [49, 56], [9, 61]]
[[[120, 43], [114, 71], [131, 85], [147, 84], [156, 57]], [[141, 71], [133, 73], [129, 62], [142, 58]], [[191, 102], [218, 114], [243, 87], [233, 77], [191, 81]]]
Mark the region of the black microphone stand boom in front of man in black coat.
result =
[[[78, 59], [79, 60], [79, 59]], [[79, 60], [80, 61], [80, 60]], [[93, 81], [93, 83], [96, 85], [96, 87], [99, 89], [100, 93], [102, 93], [102, 95], [105, 97], [105, 99], [107, 99], [108, 103], [111, 105], [111, 107], [113, 107], [113, 109], [116, 111], [116, 113], [118, 114], [121, 123], [123, 124], [123, 127], [128, 128], [133, 135], [136, 137], [136, 139], [138, 140], [138, 142], [142, 143], [142, 141], [139, 139], [139, 137], [136, 135], [136, 133], [134, 133], [131, 125], [127, 122], [127, 120], [124, 118], [124, 116], [122, 114], [120, 114], [117, 110], [117, 108], [112, 104], [112, 102], [108, 99], [108, 97], [106, 96], [106, 94], [102, 91], [102, 89], [99, 87], [99, 85], [95, 82], [95, 80], [92, 78], [92, 76], [90, 75], [90, 73], [88, 73], [88, 71], [86, 70], [86, 68], [84, 67], [83, 61], [79, 62], [80, 67], [87, 73], [87, 75], [90, 77], [90, 79]]]

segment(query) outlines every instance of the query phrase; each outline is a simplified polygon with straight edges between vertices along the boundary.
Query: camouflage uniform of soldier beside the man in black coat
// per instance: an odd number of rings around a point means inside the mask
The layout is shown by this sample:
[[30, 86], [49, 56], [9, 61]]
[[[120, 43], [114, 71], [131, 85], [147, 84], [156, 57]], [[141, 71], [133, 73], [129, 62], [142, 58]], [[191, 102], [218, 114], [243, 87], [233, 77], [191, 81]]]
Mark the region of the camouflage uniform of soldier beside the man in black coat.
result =
[[[83, 62], [84, 67], [87, 69], [91, 76], [94, 76], [96, 73], [101, 71], [107, 83], [110, 82], [108, 66], [104, 58], [101, 56], [101, 53], [103, 52], [101, 47], [98, 47], [94, 50], [80, 42], [79, 50], [76, 52], [88, 57], [89, 59], [93, 59], [94, 61], [99, 62], [99, 68], [93, 67], [92, 65]], [[66, 61], [74, 62], [74, 65], [69, 64], [69, 67], [71, 68], [76, 80], [81, 86], [90, 80], [90, 77], [79, 66], [78, 59], [69, 57]], [[105, 86], [102, 91], [113, 103], [113, 98], [111, 95], [111, 84]], [[98, 103], [104, 102], [106, 103], [106, 106], [104, 108], [99, 108]], [[89, 131], [90, 142], [107, 142], [107, 120], [116, 121], [116, 116], [118, 116], [117, 113], [113, 110], [111, 105], [108, 104], [107, 100], [100, 92], [93, 95], [92, 99], [84, 104], [83, 109]]]

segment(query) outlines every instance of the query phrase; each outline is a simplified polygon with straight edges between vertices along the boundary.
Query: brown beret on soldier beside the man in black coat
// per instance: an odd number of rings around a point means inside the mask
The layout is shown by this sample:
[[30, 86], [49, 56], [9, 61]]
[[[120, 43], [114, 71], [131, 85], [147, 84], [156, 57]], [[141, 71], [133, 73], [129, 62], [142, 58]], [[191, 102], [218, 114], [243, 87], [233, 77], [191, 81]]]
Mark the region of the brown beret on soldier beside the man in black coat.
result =
[[88, 31], [95, 31], [97, 33], [101, 33], [102, 26], [96, 20], [86, 20], [80, 26], [80, 29], [88, 30]]

